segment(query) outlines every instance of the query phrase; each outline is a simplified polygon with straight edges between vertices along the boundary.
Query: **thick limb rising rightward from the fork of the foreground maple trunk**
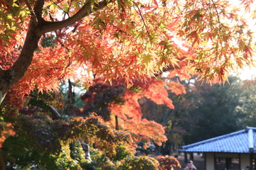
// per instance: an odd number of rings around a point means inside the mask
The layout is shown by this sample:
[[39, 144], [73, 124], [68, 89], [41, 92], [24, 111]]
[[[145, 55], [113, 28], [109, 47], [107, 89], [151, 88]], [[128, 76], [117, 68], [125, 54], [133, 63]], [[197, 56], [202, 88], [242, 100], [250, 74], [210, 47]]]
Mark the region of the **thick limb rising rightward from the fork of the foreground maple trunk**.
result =
[[92, 9], [91, 2], [87, 2], [80, 10], [75, 13], [75, 15], [71, 16], [68, 19], [65, 19], [64, 21], [58, 21], [58, 22], [46, 22], [41, 26], [40, 30], [38, 30], [38, 35], [42, 35], [43, 33], [47, 33], [53, 30], [58, 30], [60, 28], [65, 28], [67, 26], [73, 25], [75, 22], [79, 21], [80, 19], [84, 18], [85, 16], [89, 16], [94, 11], [97, 11], [101, 8], [104, 8], [107, 6], [107, 4], [112, 3], [112, 1], [103, 0], [100, 1], [98, 4], [94, 4], [94, 7]]

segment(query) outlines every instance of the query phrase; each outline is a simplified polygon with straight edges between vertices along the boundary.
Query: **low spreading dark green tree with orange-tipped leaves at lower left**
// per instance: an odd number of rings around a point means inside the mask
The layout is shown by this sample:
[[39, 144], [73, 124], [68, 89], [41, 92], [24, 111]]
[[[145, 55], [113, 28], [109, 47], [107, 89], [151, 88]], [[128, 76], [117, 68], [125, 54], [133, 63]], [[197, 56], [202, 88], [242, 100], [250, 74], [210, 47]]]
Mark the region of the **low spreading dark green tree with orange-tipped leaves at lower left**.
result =
[[35, 164], [53, 168], [63, 164], [63, 169], [73, 166], [75, 169], [78, 167], [74, 164], [75, 160], [85, 162], [78, 146], [70, 147], [70, 143], [78, 139], [95, 143], [97, 148], [110, 155], [117, 146], [129, 142], [129, 135], [115, 132], [98, 117], [80, 117], [67, 121], [53, 120], [37, 113], [18, 115], [14, 125], [16, 135], [8, 137], [2, 149], [6, 162], [22, 167]]

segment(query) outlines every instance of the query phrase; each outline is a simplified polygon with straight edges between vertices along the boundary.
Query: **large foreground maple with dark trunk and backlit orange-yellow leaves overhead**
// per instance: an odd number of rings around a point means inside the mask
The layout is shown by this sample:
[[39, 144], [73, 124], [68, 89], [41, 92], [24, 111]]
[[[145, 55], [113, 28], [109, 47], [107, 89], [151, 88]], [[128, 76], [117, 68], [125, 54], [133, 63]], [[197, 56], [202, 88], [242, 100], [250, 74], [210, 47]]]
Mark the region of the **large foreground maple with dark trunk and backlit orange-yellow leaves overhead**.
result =
[[[243, 1], [249, 11], [253, 1]], [[1, 101], [58, 89], [75, 69], [127, 84], [188, 66], [208, 81], [252, 63], [252, 33], [228, 1], [0, 1]], [[253, 17], [252, 17], [253, 18]], [[51, 33], [50, 33], [51, 32]], [[38, 46], [55, 36], [55, 46]]]

